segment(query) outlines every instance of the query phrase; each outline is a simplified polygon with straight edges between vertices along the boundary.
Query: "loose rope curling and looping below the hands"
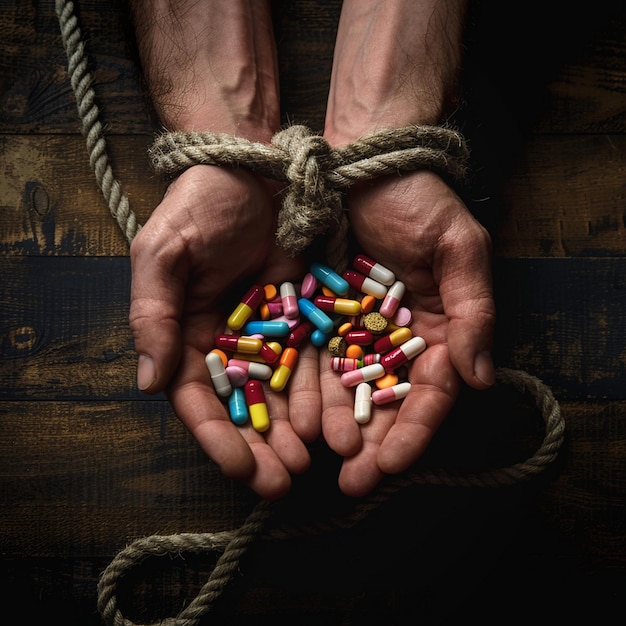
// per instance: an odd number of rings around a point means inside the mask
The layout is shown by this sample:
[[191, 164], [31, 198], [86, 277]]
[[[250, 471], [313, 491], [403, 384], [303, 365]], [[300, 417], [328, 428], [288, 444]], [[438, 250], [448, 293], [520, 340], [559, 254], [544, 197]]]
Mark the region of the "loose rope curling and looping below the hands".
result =
[[[196, 626], [208, 614], [215, 602], [237, 572], [246, 549], [256, 540], [284, 540], [311, 536], [339, 529], [347, 529], [367, 517], [374, 509], [387, 502], [395, 493], [413, 485], [442, 485], [448, 487], [505, 487], [528, 481], [552, 463], [564, 439], [565, 424], [558, 402], [549, 387], [530, 374], [506, 368], [496, 372], [497, 382], [512, 385], [520, 393], [534, 400], [545, 423], [545, 436], [537, 451], [527, 460], [510, 467], [475, 473], [458, 473], [445, 469], [421, 469], [393, 476], [382, 483], [367, 498], [359, 501], [353, 511], [341, 517], [311, 525], [276, 526], [265, 528], [271, 515], [271, 504], [261, 500], [242, 526], [234, 531], [219, 533], [186, 533], [153, 535], [138, 539], [124, 548], [111, 561], [98, 585], [98, 610], [108, 626], [152, 626], [135, 624], [124, 617], [117, 603], [116, 592], [124, 576], [151, 556], [179, 555], [183, 552], [202, 554], [221, 553], [207, 583], [191, 603], [176, 617], [160, 619], [164, 626]], [[156, 626], [156, 623], [153, 625]]]

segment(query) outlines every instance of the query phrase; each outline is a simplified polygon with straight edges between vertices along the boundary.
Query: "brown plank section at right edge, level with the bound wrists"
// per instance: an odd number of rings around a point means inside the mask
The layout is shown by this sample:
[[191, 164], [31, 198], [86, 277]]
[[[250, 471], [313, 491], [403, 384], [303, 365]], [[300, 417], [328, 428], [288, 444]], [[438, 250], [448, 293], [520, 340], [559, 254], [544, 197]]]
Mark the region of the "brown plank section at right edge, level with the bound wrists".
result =
[[534, 136], [504, 188], [496, 254], [623, 255], [625, 180], [624, 135]]

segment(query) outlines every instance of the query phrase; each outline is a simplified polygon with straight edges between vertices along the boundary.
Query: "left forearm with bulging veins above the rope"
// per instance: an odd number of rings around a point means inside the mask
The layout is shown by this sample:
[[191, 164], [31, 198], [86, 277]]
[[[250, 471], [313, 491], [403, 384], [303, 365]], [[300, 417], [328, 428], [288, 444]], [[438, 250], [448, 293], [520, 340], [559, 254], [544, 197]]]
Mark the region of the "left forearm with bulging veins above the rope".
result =
[[265, 0], [132, 0], [144, 77], [160, 123], [266, 141], [280, 124]]

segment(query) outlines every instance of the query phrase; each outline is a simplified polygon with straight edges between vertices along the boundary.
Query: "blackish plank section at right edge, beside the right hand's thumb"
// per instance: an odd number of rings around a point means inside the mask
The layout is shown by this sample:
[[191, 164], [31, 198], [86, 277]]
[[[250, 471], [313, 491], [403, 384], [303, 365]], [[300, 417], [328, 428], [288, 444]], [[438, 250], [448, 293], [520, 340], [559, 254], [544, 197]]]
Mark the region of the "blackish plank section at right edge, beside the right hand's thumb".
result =
[[499, 259], [497, 362], [568, 400], [624, 399], [626, 259]]

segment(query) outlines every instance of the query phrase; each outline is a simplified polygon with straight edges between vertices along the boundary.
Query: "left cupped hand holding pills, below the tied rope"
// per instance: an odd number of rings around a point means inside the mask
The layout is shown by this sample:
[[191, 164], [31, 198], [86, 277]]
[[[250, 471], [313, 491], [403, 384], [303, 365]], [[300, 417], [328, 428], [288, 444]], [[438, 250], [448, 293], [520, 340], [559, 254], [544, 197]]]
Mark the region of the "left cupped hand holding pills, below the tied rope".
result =
[[193, 166], [171, 183], [130, 250], [139, 388], [165, 391], [222, 473], [268, 499], [284, 495], [291, 475], [309, 466], [305, 442], [321, 429], [317, 355], [302, 351], [289, 398], [264, 383], [271, 417], [264, 433], [232, 423], [204, 359], [253, 283], [302, 276], [299, 259], [275, 245], [275, 194], [243, 170]]

